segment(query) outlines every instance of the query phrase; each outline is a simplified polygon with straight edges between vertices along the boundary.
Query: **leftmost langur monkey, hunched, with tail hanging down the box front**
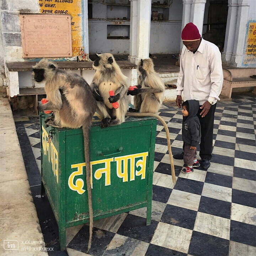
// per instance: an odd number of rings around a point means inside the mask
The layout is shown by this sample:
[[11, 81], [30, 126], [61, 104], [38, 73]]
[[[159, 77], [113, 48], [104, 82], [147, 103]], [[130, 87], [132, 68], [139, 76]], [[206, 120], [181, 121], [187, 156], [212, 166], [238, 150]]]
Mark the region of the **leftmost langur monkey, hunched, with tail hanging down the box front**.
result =
[[92, 117], [96, 110], [96, 101], [90, 86], [81, 76], [58, 69], [53, 62], [50, 62], [47, 59], [42, 59], [33, 66], [32, 74], [37, 82], [46, 82], [44, 89], [46, 91], [48, 102], [38, 105], [39, 111], [53, 111], [53, 115], [46, 119], [46, 125], [68, 128], [82, 127], [84, 135], [86, 185], [90, 218], [90, 238], [88, 242], [89, 251], [91, 247], [93, 227], [89, 132]]

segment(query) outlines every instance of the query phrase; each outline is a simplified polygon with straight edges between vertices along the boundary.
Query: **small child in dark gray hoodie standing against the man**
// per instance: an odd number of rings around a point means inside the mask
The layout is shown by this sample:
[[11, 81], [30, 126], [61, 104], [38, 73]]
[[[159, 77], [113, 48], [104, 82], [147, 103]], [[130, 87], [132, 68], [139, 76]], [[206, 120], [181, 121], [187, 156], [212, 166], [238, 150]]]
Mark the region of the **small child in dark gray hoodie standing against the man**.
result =
[[193, 172], [193, 167], [199, 167], [200, 164], [197, 161], [197, 144], [201, 140], [201, 127], [197, 116], [199, 109], [198, 100], [187, 100], [182, 103], [182, 140], [185, 143], [184, 148], [184, 164], [185, 166], [181, 171], [185, 174]]

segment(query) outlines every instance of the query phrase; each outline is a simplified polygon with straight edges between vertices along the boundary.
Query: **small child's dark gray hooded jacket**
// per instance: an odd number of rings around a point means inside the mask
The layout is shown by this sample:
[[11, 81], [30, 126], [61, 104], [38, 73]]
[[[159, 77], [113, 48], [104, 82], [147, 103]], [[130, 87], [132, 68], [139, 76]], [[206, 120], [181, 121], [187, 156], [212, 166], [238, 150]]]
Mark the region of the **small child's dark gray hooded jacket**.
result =
[[190, 146], [196, 146], [201, 140], [201, 126], [197, 116], [198, 109], [198, 100], [188, 100], [188, 116], [182, 124], [182, 140]]

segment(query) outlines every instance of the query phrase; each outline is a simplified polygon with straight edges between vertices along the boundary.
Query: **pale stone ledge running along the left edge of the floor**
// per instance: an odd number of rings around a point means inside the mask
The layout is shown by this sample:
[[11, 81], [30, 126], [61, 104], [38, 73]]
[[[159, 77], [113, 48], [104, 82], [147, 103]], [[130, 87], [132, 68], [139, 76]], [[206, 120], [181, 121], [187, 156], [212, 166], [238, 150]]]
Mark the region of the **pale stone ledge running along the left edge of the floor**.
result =
[[[10, 243], [18, 244], [18, 250], [11, 250], [12, 255], [48, 255], [46, 251], [39, 250], [44, 247], [43, 235], [10, 103], [3, 88], [0, 90], [0, 131], [0, 255], [9, 255], [10, 251], [6, 249]], [[29, 240], [37, 241], [37, 244], [27, 242]]]

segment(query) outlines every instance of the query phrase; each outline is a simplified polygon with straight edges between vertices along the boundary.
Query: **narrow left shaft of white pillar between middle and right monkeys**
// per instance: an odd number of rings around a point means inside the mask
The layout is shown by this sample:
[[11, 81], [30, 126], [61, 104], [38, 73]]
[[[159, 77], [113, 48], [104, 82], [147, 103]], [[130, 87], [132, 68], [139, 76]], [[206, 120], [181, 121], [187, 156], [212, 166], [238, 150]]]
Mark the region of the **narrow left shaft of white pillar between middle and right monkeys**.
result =
[[137, 56], [138, 0], [130, 0], [130, 54], [128, 61], [136, 64]]

